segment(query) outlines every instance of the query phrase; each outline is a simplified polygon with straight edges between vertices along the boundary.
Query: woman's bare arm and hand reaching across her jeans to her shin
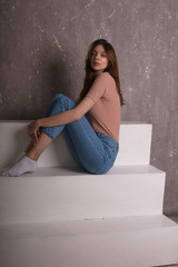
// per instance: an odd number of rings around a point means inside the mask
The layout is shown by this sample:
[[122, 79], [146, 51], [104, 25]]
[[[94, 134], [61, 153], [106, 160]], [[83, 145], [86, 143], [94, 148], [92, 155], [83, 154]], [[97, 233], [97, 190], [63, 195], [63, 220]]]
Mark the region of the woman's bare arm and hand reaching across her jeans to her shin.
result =
[[28, 127], [28, 132], [30, 137], [33, 137], [33, 144], [38, 142], [39, 128], [40, 127], [53, 127], [60, 125], [67, 125], [79, 120], [83, 115], [86, 115], [91, 107], [95, 105], [95, 101], [89, 97], [85, 97], [77, 107], [73, 109], [67, 110], [65, 112], [38, 119], [32, 121]]

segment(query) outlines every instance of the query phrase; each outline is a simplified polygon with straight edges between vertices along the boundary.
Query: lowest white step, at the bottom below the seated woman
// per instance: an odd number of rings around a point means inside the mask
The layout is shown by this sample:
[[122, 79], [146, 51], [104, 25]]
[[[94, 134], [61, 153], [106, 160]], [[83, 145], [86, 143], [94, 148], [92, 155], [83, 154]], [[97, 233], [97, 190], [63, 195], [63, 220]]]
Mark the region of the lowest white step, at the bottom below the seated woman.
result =
[[0, 266], [151, 267], [178, 263], [165, 216], [0, 226]]

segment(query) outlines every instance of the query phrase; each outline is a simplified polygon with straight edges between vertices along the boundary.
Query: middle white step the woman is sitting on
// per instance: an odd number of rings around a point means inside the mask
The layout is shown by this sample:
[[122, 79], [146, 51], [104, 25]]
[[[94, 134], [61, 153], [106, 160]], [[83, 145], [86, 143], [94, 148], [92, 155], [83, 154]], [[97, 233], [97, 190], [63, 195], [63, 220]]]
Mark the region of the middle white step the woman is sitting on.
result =
[[107, 175], [62, 167], [0, 177], [0, 224], [162, 214], [165, 172], [115, 166]]

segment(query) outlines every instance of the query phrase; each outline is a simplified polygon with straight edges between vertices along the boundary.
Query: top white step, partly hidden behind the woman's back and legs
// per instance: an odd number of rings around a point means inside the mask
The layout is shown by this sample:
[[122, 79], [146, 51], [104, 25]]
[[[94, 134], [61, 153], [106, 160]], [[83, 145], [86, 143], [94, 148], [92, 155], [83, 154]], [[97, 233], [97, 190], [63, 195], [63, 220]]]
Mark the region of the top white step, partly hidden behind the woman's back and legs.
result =
[[[27, 126], [29, 122], [0, 121], [0, 169], [13, 162], [28, 145]], [[122, 122], [120, 127], [120, 151], [115, 165], [149, 164], [150, 144], [151, 125]], [[76, 166], [62, 135], [44, 151], [39, 160], [39, 166]]]

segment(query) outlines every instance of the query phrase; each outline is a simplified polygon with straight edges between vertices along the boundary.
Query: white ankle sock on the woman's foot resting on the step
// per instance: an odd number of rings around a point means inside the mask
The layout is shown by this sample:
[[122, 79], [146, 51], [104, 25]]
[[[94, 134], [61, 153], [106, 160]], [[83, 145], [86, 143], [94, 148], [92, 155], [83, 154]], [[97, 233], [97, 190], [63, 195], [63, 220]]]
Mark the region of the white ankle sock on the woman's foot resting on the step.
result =
[[24, 172], [34, 171], [38, 168], [38, 161], [34, 161], [27, 156], [23, 156], [16, 165], [11, 168], [3, 170], [2, 176], [20, 176]]

